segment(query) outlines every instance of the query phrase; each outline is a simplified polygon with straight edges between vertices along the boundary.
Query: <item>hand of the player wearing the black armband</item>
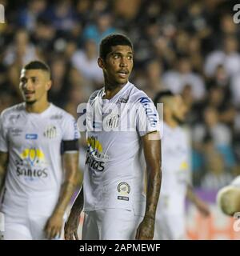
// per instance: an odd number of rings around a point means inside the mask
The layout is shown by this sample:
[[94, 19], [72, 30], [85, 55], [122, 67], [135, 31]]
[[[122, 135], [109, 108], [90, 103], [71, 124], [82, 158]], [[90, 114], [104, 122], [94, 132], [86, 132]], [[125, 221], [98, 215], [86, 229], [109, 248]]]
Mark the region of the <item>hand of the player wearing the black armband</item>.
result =
[[52, 216], [48, 219], [45, 226], [46, 238], [53, 239], [60, 237], [62, 231], [62, 212], [54, 212]]

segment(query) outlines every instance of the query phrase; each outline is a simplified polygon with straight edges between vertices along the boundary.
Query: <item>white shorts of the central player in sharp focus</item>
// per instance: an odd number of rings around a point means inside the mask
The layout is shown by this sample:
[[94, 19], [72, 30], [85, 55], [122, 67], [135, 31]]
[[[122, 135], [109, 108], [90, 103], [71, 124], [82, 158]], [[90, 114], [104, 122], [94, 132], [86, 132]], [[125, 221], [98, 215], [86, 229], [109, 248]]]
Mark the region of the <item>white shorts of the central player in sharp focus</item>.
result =
[[82, 240], [134, 240], [142, 218], [135, 215], [134, 210], [86, 211]]

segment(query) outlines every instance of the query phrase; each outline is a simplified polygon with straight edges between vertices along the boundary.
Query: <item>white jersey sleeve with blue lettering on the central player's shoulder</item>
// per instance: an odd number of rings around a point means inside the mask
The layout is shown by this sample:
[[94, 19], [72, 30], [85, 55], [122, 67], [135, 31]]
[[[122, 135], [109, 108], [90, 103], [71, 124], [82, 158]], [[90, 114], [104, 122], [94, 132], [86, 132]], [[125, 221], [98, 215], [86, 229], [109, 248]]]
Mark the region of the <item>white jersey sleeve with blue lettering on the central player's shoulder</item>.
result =
[[148, 97], [141, 97], [138, 98], [136, 106], [136, 126], [140, 136], [160, 131], [158, 111], [154, 106], [154, 102]]

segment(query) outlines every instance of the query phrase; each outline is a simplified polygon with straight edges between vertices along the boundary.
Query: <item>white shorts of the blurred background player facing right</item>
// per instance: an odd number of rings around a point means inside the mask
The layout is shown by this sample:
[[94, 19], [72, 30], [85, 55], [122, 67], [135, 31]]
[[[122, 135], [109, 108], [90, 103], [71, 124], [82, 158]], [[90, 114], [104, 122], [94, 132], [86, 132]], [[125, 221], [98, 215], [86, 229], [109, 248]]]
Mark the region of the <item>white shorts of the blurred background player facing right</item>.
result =
[[182, 214], [156, 215], [154, 240], [186, 239], [185, 218]]

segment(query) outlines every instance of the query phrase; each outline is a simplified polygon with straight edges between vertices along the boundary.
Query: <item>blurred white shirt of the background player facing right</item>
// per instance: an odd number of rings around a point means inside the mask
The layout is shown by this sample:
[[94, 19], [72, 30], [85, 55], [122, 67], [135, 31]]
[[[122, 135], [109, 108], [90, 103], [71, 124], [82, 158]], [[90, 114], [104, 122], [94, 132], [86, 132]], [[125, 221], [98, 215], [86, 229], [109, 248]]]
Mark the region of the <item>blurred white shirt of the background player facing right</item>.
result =
[[190, 150], [186, 131], [163, 124], [162, 185], [158, 214], [184, 214], [186, 186], [190, 182]]

